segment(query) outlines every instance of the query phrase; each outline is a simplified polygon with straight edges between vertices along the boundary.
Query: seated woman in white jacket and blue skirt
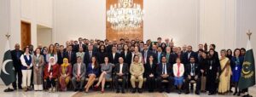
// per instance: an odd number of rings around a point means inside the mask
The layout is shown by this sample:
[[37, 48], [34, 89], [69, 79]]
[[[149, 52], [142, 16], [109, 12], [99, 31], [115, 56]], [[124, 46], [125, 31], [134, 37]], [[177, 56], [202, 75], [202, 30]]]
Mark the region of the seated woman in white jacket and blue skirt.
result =
[[174, 85], [177, 86], [177, 94], [181, 94], [181, 88], [183, 86], [183, 74], [184, 66], [179, 58], [176, 59], [176, 63], [173, 64], [173, 74], [174, 74]]

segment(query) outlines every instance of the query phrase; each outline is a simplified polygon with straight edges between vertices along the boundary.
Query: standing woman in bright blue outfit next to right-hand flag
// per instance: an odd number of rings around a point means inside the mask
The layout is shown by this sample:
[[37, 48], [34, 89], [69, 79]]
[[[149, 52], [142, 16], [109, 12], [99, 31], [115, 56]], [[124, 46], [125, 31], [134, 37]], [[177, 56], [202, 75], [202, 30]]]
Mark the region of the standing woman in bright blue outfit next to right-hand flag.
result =
[[238, 82], [239, 82], [239, 78], [241, 76], [241, 66], [242, 66], [242, 62], [243, 62], [243, 57], [240, 55], [240, 49], [236, 48], [234, 50], [234, 56], [231, 59], [231, 70], [232, 70], [232, 82], [235, 84], [235, 93], [233, 95], [240, 95], [240, 92], [237, 93], [237, 87], [238, 87]]

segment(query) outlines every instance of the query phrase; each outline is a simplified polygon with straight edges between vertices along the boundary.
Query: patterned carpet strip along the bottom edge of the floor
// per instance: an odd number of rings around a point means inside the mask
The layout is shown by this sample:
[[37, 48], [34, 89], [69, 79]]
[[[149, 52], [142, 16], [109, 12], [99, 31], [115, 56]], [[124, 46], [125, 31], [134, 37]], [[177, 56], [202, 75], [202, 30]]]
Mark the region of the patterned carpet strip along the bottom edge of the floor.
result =
[[106, 92], [104, 94], [102, 94], [100, 92], [92, 92], [92, 93], [85, 94], [83, 92], [79, 92], [79, 93], [73, 95], [73, 97], [88, 97], [88, 96], [90, 96], [90, 97], [167, 97], [167, 94], [160, 94], [160, 93], [115, 94], [114, 92]]

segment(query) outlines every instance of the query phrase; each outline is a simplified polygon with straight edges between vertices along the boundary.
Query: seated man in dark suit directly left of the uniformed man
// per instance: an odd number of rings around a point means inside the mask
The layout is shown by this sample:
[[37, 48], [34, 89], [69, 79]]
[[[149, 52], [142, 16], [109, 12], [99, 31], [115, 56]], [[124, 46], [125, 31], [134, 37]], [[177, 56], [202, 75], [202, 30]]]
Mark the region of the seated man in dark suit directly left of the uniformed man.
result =
[[124, 59], [122, 57], [119, 57], [119, 63], [115, 65], [114, 69], [115, 77], [114, 82], [116, 86], [116, 93], [119, 93], [119, 79], [122, 79], [122, 94], [125, 94], [125, 83], [127, 80], [127, 74], [128, 74], [128, 64], [124, 63]]

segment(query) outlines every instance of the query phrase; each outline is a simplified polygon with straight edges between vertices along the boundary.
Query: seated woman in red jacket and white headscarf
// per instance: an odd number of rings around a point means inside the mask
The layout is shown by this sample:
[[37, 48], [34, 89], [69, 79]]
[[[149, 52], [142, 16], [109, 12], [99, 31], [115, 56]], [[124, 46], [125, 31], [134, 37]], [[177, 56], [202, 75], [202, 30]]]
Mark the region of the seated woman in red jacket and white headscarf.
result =
[[59, 74], [59, 65], [55, 63], [55, 57], [49, 57], [49, 63], [44, 68], [44, 81], [49, 92], [55, 92], [55, 82]]

